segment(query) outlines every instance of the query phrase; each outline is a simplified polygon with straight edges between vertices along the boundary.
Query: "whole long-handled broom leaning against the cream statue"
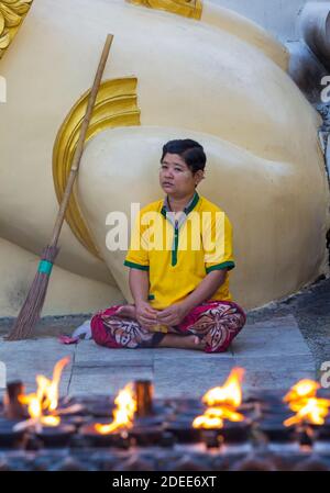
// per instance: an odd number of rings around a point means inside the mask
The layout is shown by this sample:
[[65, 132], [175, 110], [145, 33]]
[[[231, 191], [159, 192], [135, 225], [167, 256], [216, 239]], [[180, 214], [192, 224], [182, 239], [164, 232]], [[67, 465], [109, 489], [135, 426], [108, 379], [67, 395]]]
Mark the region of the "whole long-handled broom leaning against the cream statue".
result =
[[40, 318], [44, 301], [46, 298], [46, 291], [48, 287], [53, 264], [59, 251], [59, 248], [57, 247], [57, 240], [64, 222], [65, 212], [69, 202], [74, 182], [79, 169], [88, 125], [91, 119], [91, 113], [94, 110], [95, 101], [105, 71], [106, 63], [109, 56], [112, 40], [113, 40], [112, 34], [108, 34], [103, 52], [99, 61], [98, 70], [94, 80], [94, 85], [89, 94], [87, 110], [81, 124], [79, 141], [74, 155], [69, 178], [66, 183], [64, 195], [59, 205], [59, 211], [56, 217], [51, 243], [44, 248], [42, 253], [41, 262], [38, 265], [38, 269], [35, 274], [34, 281], [30, 288], [28, 298], [21, 309], [21, 312], [19, 313], [19, 316], [15, 320], [14, 325], [11, 328], [11, 332], [6, 338], [7, 340], [19, 340], [30, 337], [35, 324]]

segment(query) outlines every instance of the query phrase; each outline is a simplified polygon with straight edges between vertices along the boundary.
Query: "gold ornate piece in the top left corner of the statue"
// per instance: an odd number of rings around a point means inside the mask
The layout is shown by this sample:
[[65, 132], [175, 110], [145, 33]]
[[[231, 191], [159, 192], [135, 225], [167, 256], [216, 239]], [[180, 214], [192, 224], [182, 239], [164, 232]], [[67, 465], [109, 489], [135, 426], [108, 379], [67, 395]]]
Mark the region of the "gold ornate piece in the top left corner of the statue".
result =
[[0, 0], [0, 59], [16, 35], [33, 0]]

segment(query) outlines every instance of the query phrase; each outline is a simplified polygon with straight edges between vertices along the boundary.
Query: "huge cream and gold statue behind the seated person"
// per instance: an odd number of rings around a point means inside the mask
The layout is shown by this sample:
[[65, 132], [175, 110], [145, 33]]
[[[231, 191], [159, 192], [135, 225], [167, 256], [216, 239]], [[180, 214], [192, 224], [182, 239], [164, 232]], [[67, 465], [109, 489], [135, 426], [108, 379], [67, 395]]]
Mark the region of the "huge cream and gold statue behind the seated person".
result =
[[[118, 211], [130, 223], [132, 203], [160, 199], [160, 152], [170, 138], [206, 149], [199, 193], [233, 223], [240, 304], [260, 306], [328, 272], [321, 119], [287, 75], [285, 47], [208, 1], [136, 2], [34, 0], [1, 59], [2, 316], [18, 313], [48, 242], [107, 33], [114, 41], [44, 314], [128, 299], [125, 251], [108, 249], [107, 217]], [[31, 3], [0, 0], [0, 54]]]

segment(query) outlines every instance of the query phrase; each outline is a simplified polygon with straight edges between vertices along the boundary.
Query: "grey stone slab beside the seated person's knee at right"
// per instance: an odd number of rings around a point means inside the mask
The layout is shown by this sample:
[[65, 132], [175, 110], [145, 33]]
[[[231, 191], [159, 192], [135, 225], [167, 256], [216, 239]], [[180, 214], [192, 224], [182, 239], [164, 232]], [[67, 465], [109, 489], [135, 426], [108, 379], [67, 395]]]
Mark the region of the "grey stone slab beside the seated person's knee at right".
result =
[[293, 315], [245, 325], [231, 345], [234, 356], [307, 355], [310, 350]]

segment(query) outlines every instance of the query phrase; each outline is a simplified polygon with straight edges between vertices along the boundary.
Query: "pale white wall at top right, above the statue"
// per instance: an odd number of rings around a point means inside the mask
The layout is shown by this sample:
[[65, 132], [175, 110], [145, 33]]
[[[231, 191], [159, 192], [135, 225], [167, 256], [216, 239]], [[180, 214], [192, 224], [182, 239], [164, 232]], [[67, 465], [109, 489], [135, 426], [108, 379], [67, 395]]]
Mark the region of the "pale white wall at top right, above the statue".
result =
[[[283, 42], [297, 41], [296, 20], [307, 0], [211, 0], [261, 24]], [[327, 2], [329, 0], [314, 0]]]

